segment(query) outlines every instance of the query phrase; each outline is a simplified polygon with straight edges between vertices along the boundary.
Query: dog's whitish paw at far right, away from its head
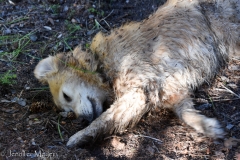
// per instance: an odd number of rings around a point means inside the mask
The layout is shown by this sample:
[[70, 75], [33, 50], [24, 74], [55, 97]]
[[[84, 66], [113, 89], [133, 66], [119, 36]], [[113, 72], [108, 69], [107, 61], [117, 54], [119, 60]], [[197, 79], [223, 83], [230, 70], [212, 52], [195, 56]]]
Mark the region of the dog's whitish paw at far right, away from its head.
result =
[[211, 138], [223, 138], [225, 133], [219, 122], [214, 118], [207, 118], [202, 120], [203, 133]]

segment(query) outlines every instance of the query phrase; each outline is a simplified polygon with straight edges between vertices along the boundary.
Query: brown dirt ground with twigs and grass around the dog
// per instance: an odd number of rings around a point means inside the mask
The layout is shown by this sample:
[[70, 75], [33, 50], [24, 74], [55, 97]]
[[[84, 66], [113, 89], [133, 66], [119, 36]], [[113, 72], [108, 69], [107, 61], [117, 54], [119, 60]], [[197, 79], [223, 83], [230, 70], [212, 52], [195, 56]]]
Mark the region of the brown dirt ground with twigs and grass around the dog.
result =
[[[165, 0], [0, 0], [0, 160], [2, 159], [228, 159], [240, 160], [240, 59], [193, 97], [195, 107], [216, 117], [226, 136], [196, 133], [167, 110], [145, 115], [122, 135], [68, 149], [82, 120], [56, 112], [48, 87], [33, 75], [38, 61], [88, 48], [100, 30], [140, 21]], [[16, 75], [16, 76], [14, 76]], [[61, 137], [62, 136], [62, 137]]]

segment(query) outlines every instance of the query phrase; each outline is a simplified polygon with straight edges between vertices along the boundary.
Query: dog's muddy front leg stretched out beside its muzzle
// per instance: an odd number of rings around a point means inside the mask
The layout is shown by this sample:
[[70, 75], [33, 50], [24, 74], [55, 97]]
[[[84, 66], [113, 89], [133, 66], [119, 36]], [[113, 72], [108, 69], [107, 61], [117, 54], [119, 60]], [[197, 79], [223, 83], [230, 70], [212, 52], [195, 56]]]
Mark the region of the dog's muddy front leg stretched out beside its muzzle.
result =
[[71, 136], [67, 146], [82, 145], [96, 139], [99, 135], [122, 132], [127, 127], [133, 127], [148, 110], [144, 91], [132, 89], [117, 98], [114, 104], [87, 128]]

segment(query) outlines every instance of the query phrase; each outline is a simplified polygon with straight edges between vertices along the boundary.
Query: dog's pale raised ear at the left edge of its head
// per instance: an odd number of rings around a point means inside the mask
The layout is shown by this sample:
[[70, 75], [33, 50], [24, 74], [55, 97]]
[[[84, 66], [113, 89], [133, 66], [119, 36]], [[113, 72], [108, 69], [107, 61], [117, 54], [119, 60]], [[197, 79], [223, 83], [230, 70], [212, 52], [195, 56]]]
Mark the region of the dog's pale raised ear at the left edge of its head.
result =
[[34, 70], [34, 75], [39, 81], [45, 83], [48, 80], [48, 76], [56, 72], [57, 67], [54, 62], [54, 57], [49, 56], [38, 63]]

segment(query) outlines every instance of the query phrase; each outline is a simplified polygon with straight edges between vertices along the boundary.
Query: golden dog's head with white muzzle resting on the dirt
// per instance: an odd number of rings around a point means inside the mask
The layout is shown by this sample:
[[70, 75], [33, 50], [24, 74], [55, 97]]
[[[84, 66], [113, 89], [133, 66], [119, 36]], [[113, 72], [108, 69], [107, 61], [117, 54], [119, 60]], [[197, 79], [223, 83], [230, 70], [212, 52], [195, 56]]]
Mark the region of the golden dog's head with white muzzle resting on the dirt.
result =
[[102, 82], [96, 69], [93, 55], [77, 47], [72, 53], [41, 60], [34, 74], [41, 82], [49, 84], [58, 108], [92, 121], [102, 113], [108, 96], [108, 85]]

